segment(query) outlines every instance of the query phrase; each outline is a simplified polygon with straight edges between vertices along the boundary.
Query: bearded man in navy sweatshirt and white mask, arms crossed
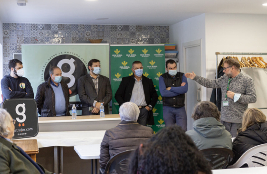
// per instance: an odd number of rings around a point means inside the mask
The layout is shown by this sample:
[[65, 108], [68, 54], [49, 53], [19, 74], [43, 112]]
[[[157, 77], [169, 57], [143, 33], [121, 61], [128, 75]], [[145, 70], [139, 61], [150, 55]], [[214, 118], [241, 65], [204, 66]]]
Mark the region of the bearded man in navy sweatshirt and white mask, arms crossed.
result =
[[18, 59], [9, 60], [10, 74], [1, 80], [3, 101], [15, 98], [34, 98], [33, 88], [24, 74], [22, 62]]

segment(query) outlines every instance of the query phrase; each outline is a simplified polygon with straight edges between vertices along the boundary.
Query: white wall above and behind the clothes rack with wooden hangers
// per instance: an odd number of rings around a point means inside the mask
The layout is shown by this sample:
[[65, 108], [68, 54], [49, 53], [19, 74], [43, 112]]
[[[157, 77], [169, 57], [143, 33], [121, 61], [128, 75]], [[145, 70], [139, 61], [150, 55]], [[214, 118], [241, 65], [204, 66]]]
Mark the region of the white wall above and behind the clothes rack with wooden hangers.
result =
[[206, 13], [205, 18], [207, 78], [215, 78], [215, 52], [267, 52], [267, 15]]

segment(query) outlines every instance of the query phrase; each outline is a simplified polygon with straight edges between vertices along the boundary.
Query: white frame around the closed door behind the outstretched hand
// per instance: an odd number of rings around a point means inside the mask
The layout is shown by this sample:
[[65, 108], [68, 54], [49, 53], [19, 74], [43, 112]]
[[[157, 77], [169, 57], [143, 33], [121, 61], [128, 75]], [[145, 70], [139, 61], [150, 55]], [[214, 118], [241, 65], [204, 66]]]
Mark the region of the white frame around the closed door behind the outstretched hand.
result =
[[[191, 47], [196, 47], [196, 46], [200, 46], [200, 54], [201, 54], [201, 75], [200, 76], [203, 76], [203, 72], [202, 72], [202, 67], [203, 67], [203, 57], [202, 57], [202, 39], [198, 39], [198, 40], [195, 40], [195, 41], [190, 41], [190, 42], [185, 42], [182, 44], [183, 45], [183, 69], [184, 69], [184, 72], [186, 73], [187, 70], [186, 70], [186, 48], [191, 48]], [[201, 101], [204, 101], [203, 100], [203, 86], [201, 85], [201, 92], [200, 92], [200, 99]], [[185, 97], [185, 104], [187, 102], [187, 97]], [[187, 106], [185, 106], [186, 110], [187, 110]]]

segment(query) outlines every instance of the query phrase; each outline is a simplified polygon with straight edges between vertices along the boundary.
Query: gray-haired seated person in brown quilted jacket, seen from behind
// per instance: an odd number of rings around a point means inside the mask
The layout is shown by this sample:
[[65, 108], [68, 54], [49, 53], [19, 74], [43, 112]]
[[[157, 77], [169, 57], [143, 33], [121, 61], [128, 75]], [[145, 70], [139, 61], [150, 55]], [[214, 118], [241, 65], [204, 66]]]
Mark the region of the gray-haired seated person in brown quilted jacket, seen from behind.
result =
[[150, 127], [137, 123], [139, 108], [135, 103], [125, 102], [119, 109], [121, 122], [105, 132], [100, 150], [100, 167], [105, 169], [108, 160], [117, 153], [136, 149], [153, 136]]

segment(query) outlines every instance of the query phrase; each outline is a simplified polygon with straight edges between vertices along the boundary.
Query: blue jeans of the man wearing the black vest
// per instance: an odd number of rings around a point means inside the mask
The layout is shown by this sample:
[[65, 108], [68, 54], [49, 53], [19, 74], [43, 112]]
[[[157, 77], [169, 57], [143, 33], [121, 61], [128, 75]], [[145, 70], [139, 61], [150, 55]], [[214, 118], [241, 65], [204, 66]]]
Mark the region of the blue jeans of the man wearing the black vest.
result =
[[177, 108], [163, 106], [163, 119], [166, 127], [176, 123], [177, 126], [187, 131], [187, 115], [184, 106]]

